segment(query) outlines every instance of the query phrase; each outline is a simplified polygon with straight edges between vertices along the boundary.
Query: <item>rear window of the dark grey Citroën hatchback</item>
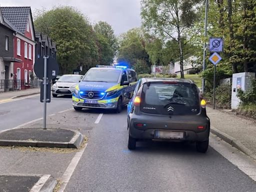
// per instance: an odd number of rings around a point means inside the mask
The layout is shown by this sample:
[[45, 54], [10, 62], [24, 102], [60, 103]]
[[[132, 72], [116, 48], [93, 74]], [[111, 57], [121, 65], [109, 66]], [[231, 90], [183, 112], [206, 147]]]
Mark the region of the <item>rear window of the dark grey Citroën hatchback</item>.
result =
[[199, 95], [190, 83], [151, 83], [143, 85], [140, 110], [155, 114], [197, 114]]

